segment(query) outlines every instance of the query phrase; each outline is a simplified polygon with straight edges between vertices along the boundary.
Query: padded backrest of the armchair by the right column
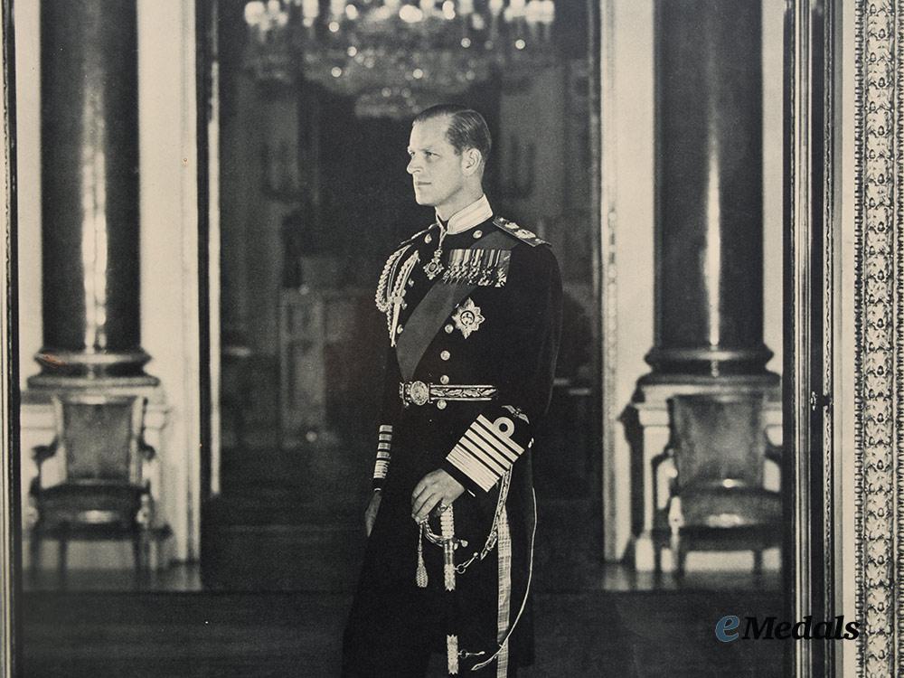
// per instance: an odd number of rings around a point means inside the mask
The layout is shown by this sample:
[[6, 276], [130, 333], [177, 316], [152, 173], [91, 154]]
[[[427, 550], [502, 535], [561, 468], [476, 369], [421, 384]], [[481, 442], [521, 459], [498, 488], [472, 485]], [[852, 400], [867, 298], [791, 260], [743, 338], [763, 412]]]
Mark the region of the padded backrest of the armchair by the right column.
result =
[[767, 443], [763, 397], [683, 395], [671, 398], [669, 405], [679, 491], [762, 486]]

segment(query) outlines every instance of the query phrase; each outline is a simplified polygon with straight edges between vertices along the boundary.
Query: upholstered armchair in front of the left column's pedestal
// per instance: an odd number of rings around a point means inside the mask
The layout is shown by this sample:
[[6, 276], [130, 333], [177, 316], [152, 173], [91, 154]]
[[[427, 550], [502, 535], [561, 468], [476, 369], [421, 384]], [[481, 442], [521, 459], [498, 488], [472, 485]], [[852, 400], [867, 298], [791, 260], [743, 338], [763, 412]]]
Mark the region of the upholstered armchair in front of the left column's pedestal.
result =
[[[137, 578], [146, 572], [154, 504], [142, 465], [155, 456], [143, 438], [146, 399], [124, 395], [52, 397], [56, 435], [33, 448], [38, 475], [31, 485], [36, 517], [31, 529], [33, 576], [45, 538], [59, 545], [65, 582], [71, 540], [132, 541]], [[44, 486], [42, 467], [55, 459], [62, 481]]]

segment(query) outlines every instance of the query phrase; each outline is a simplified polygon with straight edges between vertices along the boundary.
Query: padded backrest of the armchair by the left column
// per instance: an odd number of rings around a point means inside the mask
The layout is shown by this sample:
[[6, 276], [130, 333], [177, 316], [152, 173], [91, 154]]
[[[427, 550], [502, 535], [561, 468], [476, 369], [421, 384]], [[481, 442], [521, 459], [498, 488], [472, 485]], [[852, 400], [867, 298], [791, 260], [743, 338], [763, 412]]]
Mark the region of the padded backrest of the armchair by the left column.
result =
[[54, 396], [57, 454], [68, 482], [140, 485], [140, 396]]

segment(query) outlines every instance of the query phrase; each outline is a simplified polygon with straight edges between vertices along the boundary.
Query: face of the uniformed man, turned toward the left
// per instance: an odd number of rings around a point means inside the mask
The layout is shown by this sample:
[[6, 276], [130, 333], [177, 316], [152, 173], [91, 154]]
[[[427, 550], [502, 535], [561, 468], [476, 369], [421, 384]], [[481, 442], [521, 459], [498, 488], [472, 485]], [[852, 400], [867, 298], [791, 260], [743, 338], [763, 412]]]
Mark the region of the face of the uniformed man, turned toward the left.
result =
[[459, 207], [457, 202], [465, 193], [463, 158], [448, 142], [448, 122], [445, 116], [430, 118], [411, 128], [408, 173], [419, 205]]

